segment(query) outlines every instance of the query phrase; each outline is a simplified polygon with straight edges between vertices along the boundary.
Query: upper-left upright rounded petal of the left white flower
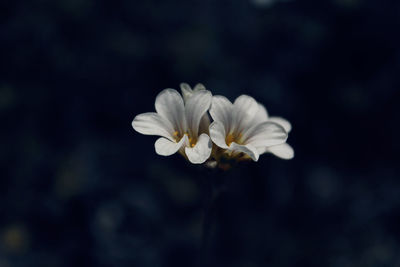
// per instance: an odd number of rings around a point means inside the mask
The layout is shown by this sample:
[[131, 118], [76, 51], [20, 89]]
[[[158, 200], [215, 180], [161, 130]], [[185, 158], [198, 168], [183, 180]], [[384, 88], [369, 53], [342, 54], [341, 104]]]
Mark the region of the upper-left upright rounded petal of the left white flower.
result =
[[165, 89], [156, 97], [156, 111], [166, 118], [180, 134], [186, 132], [185, 106], [181, 95], [174, 89]]

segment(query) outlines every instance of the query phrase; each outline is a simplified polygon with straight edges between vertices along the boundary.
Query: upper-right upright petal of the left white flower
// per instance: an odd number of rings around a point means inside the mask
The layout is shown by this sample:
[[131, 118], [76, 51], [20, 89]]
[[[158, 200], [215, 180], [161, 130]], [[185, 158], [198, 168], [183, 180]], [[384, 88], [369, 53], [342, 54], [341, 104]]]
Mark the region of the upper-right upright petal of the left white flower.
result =
[[198, 135], [200, 120], [211, 105], [212, 95], [210, 91], [199, 90], [193, 92], [185, 105], [188, 129], [192, 136]]

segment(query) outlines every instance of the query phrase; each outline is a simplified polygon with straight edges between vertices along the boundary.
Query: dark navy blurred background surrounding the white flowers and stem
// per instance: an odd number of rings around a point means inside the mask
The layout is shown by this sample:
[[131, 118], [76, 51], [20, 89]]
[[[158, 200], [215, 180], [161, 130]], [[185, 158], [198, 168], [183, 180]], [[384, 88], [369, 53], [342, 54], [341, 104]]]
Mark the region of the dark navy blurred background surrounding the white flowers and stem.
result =
[[224, 174], [208, 266], [400, 266], [399, 14], [0, 2], [0, 266], [196, 266], [210, 173], [131, 128], [180, 82], [249, 94], [293, 125], [293, 160]]

